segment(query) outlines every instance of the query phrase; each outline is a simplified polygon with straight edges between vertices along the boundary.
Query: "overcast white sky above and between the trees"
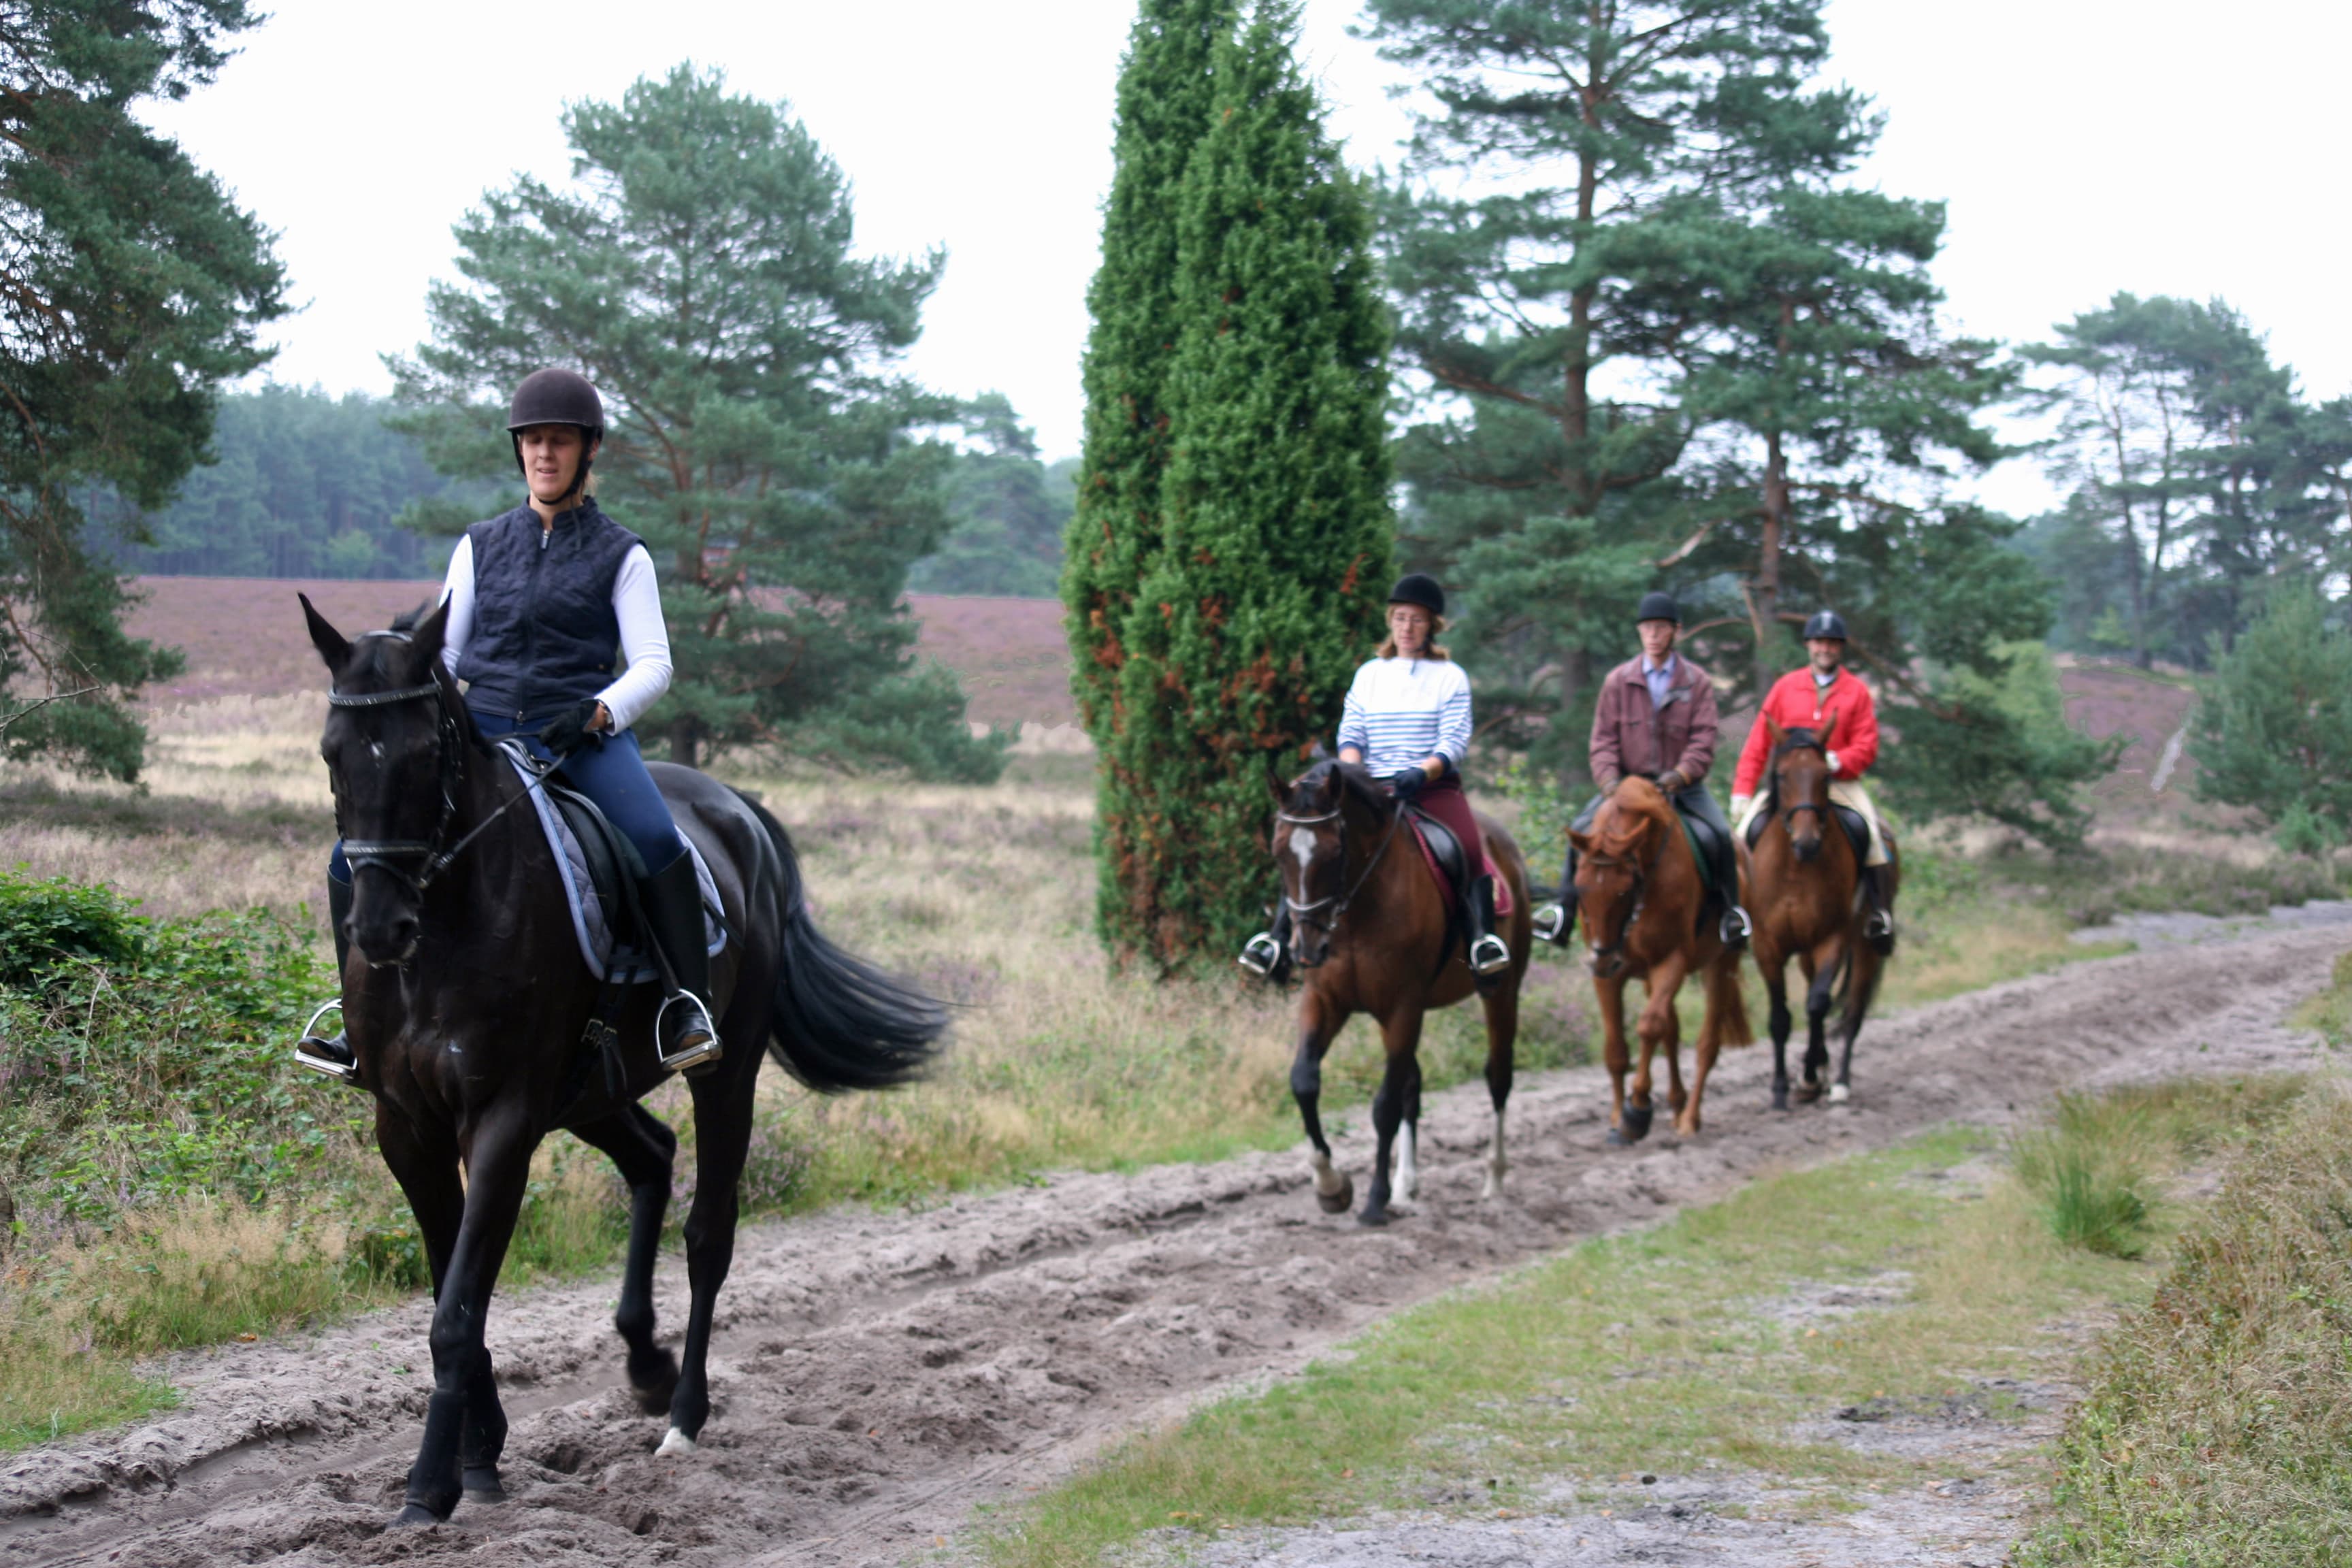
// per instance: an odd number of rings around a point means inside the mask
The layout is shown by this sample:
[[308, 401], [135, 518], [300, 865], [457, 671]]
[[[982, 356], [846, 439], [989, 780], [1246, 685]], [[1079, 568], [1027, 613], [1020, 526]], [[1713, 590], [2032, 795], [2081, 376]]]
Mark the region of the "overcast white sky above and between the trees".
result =
[[[273, 376], [386, 390], [449, 223], [517, 169], [567, 174], [564, 101], [682, 59], [788, 99], [856, 188], [863, 247], [948, 247], [910, 367], [1002, 390], [1047, 456], [1080, 435], [1112, 78], [1129, 0], [280, 0], [216, 87], [153, 120], [280, 233], [301, 313]], [[1305, 56], [1355, 165], [1395, 160], [1397, 80], [1308, 0]], [[2340, 197], [2352, 7], [2319, 0], [1832, 0], [1832, 75], [1889, 129], [1865, 179], [1950, 202], [1969, 331], [2032, 339], [2114, 289], [2225, 296], [2321, 397], [2352, 390]], [[2018, 468], [2018, 465], [2011, 465]], [[2027, 473], [1987, 498], [2034, 505]]]

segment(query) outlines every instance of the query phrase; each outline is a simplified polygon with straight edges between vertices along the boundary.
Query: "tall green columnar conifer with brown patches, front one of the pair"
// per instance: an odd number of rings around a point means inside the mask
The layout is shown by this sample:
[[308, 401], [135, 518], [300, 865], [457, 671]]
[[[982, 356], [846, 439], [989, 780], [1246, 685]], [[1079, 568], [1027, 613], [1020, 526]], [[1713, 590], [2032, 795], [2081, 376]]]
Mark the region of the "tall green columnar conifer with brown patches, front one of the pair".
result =
[[1120, 541], [1134, 588], [1108, 618], [1101, 924], [1162, 966], [1256, 919], [1265, 776], [1338, 719], [1390, 571], [1371, 216], [1294, 33], [1268, 0], [1211, 52], [1174, 214], [1160, 503]]

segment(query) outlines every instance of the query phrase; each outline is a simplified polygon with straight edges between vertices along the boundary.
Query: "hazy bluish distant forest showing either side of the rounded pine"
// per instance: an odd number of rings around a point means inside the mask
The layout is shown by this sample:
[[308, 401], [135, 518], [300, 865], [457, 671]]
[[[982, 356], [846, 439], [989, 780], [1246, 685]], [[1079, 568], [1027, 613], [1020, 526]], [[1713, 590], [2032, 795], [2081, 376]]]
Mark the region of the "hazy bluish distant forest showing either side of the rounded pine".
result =
[[[216, 461], [193, 470], [172, 505], [139, 517], [99, 494], [89, 515], [134, 574], [437, 576], [454, 541], [409, 531], [400, 515], [419, 501], [454, 501], [489, 517], [520, 491], [445, 480], [407, 435], [383, 423], [388, 414], [388, 400], [365, 393], [332, 397], [292, 386], [230, 393], [214, 425]], [[955, 531], [936, 555], [915, 562], [908, 588], [1051, 597], [1077, 458], [1042, 463], [1035, 437], [995, 393], [967, 404], [962, 437], [948, 470]], [[136, 538], [139, 524], [151, 543]]]

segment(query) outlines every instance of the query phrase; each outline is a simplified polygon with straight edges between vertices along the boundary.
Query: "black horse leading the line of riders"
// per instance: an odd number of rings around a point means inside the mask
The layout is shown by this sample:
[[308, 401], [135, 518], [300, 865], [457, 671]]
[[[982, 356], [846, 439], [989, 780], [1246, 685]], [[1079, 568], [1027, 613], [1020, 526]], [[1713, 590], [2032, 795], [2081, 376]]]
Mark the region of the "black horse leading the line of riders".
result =
[[358, 639], [308, 597], [303, 616], [334, 682], [320, 755], [353, 867], [343, 1027], [360, 1084], [376, 1098], [376, 1150], [433, 1267], [433, 1394], [393, 1523], [442, 1521], [461, 1495], [506, 1495], [506, 1415], [482, 1328], [532, 1152], [555, 1128], [604, 1150], [628, 1182], [614, 1328], [637, 1403], [668, 1413], [656, 1453], [694, 1453], [710, 1415], [710, 1314], [734, 1258], [762, 1046], [809, 1088], [887, 1088], [924, 1070], [946, 1013], [826, 940], [793, 844], [767, 809], [691, 769], [652, 764], [680, 830], [710, 865], [727, 922], [710, 997], [722, 1056], [687, 1079], [696, 1187], [680, 1366], [654, 1342], [654, 1248], [677, 1138], [637, 1105], [666, 1077], [654, 1060], [659, 987], [628, 992], [604, 1020], [626, 1044], [621, 1067], [600, 1070], [583, 1053], [600, 985], [581, 959], [527, 785], [475, 729], [442, 668], [447, 604], [407, 630]]

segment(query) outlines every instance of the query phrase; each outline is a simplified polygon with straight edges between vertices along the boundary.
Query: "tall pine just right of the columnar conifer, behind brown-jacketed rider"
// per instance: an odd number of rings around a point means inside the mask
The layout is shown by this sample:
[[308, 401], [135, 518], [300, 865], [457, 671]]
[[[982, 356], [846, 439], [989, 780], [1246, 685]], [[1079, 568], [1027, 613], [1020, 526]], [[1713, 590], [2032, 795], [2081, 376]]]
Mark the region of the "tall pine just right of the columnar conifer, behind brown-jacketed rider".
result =
[[1870, 120], [1809, 87], [1820, 0], [1371, 0], [1369, 21], [1435, 103], [1381, 207], [1421, 393], [1406, 564], [1461, 590], [1482, 726], [1581, 773], [1630, 607], [1661, 569], [1698, 583], [1675, 552], [1708, 517], [1696, 425], [1658, 395], [1682, 322], [1630, 308], [1628, 277], [1677, 244], [1679, 205], [1844, 169]]

